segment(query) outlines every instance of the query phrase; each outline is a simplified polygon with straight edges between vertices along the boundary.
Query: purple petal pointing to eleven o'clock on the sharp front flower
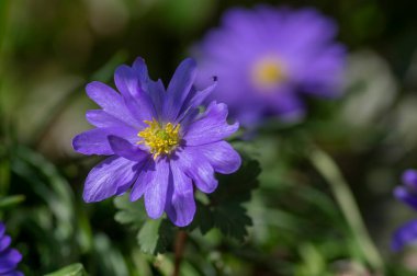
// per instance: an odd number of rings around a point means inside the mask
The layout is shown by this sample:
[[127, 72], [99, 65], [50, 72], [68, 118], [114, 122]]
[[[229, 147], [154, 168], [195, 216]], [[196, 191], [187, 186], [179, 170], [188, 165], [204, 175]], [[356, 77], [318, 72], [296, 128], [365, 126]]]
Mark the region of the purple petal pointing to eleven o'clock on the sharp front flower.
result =
[[125, 105], [137, 120], [151, 120], [156, 116], [153, 102], [142, 89], [135, 70], [120, 66], [114, 73], [114, 81], [123, 94]]

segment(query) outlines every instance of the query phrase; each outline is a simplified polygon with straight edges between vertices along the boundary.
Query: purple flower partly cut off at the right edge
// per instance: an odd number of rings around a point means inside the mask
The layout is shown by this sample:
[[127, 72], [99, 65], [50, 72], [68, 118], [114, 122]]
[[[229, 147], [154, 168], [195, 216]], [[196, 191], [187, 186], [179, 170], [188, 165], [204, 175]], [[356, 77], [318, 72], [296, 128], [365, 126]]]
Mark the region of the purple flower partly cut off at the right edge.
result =
[[[417, 210], [417, 171], [405, 171], [403, 173], [403, 186], [394, 189], [394, 196]], [[417, 220], [412, 220], [394, 232], [391, 245], [394, 251], [399, 251], [405, 245], [415, 242], [417, 242]]]

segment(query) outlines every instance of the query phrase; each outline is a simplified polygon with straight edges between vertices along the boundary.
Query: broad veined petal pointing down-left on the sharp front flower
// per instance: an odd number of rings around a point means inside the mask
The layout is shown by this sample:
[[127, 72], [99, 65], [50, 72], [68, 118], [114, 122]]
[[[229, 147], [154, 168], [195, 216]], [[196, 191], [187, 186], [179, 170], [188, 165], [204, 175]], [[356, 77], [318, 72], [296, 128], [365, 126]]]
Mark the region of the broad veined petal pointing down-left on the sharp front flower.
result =
[[94, 166], [87, 176], [83, 199], [100, 202], [123, 194], [137, 176], [140, 163], [121, 157], [111, 157]]

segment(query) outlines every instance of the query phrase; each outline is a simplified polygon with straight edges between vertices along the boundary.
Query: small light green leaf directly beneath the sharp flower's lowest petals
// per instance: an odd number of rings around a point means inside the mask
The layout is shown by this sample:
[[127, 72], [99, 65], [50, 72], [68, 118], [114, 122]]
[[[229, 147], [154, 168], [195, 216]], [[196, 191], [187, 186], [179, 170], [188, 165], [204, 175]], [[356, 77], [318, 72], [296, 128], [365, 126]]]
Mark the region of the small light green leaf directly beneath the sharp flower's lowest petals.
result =
[[161, 254], [172, 244], [176, 228], [167, 219], [148, 219], [140, 229], [137, 240], [147, 254]]

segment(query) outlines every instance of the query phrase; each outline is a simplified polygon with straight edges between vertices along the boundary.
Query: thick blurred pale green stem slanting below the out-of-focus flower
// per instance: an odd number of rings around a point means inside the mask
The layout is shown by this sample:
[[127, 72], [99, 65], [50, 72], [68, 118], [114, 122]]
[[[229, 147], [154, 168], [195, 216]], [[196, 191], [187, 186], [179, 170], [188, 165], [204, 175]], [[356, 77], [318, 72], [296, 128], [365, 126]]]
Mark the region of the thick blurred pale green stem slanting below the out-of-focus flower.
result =
[[339, 168], [331, 157], [317, 147], [314, 147], [309, 151], [308, 158], [312, 164], [329, 184], [348, 226], [350, 227], [353, 238], [362, 249], [367, 261], [376, 273], [381, 274], [384, 269], [382, 257], [369, 235], [353, 194]]

